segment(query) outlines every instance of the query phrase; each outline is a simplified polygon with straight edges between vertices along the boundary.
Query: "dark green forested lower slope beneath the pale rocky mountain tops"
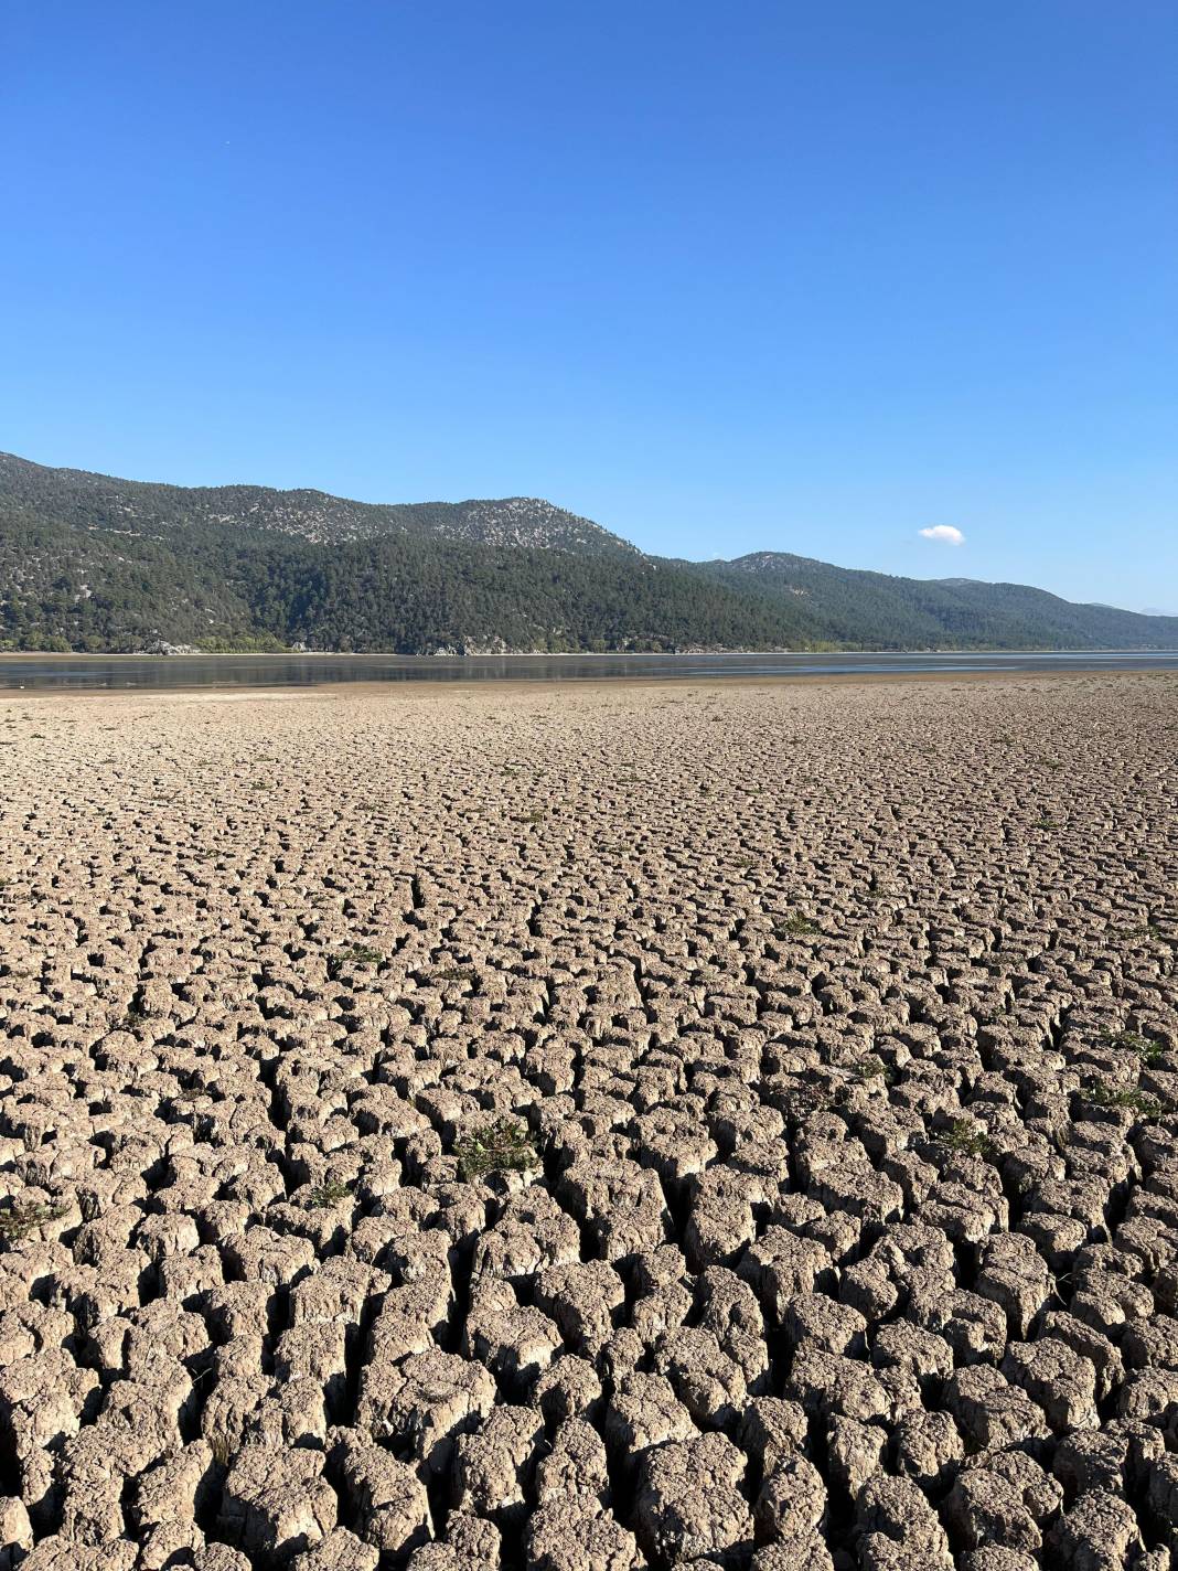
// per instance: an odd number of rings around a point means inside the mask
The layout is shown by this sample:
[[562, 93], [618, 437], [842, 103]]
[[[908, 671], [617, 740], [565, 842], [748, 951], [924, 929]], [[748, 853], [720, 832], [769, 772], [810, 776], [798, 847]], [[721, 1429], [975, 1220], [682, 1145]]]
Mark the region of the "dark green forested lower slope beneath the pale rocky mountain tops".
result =
[[776, 649], [807, 636], [770, 602], [641, 553], [316, 545], [226, 525], [154, 539], [16, 517], [0, 496], [8, 649]]

